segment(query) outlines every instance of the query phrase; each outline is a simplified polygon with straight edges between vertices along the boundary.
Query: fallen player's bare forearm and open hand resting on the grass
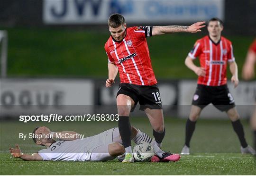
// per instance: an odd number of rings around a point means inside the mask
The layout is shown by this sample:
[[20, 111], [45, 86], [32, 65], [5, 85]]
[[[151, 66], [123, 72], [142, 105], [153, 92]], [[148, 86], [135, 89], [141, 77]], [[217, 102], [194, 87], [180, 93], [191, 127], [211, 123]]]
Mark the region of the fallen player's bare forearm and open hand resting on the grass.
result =
[[16, 143], [16, 148], [9, 148], [9, 152], [14, 158], [21, 158], [25, 161], [42, 161], [43, 158], [38, 153], [33, 153], [32, 155], [22, 153], [18, 144]]

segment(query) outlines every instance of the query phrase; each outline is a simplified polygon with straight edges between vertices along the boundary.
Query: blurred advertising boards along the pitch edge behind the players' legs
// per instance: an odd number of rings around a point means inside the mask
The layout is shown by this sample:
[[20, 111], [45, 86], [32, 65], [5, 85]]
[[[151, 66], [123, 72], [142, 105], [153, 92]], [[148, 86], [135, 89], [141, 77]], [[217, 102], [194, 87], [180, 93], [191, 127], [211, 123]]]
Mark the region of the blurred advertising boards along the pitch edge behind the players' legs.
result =
[[[20, 115], [41, 114], [116, 114], [116, 93], [119, 85], [105, 87], [104, 79], [59, 78], [2, 78], [0, 79], [0, 117], [17, 118]], [[185, 117], [190, 112], [196, 80], [158, 80], [164, 114]], [[256, 81], [240, 82], [229, 90], [242, 118], [250, 117], [255, 106]], [[145, 116], [138, 110], [131, 116]], [[204, 118], [224, 118], [225, 113], [213, 106], [206, 107]]]

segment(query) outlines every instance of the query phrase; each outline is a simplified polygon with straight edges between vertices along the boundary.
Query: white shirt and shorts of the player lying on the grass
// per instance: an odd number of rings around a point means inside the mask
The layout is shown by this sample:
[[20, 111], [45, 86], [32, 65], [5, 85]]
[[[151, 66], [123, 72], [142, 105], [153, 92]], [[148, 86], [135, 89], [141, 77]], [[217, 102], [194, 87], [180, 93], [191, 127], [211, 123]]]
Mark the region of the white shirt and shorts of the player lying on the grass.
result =
[[90, 160], [91, 152], [103, 145], [112, 143], [113, 129], [91, 137], [73, 141], [57, 141], [47, 149], [38, 151], [43, 160], [85, 161]]

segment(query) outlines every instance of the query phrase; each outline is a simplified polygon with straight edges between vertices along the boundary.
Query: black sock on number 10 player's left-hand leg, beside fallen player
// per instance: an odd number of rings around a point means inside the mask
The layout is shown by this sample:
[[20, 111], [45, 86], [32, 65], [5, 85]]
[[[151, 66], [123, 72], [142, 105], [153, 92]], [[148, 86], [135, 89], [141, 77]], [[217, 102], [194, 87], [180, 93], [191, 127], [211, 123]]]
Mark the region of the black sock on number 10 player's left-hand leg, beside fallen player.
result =
[[129, 117], [119, 116], [118, 127], [124, 148], [131, 146], [131, 124]]

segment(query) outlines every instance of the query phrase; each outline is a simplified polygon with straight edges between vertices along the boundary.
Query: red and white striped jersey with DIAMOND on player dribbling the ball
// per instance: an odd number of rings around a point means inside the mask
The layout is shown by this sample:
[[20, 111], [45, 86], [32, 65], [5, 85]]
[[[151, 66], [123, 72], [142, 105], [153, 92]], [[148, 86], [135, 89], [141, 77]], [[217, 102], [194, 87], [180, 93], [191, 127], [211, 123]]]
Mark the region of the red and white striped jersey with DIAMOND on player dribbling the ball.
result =
[[152, 26], [129, 27], [122, 41], [117, 42], [110, 36], [106, 42], [105, 50], [109, 62], [118, 66], [121, 83], [157, 83], [146, 42], [146, 37], [152, 36], [152, 29]]

